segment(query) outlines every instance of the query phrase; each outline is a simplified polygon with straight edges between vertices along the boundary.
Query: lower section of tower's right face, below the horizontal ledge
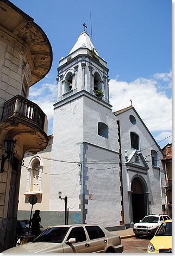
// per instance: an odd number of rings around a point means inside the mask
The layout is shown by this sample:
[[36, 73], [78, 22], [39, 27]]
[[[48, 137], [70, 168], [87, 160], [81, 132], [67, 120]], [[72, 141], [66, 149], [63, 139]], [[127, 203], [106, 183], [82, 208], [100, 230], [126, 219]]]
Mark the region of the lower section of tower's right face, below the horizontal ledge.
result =
[[85, 208], [86, 223], [101, 224], [103, 227], [120, 225], [121, 194], [119, 157], [114, 151], [105, 150], [87, 144], [85, 157], [89, 194]]

